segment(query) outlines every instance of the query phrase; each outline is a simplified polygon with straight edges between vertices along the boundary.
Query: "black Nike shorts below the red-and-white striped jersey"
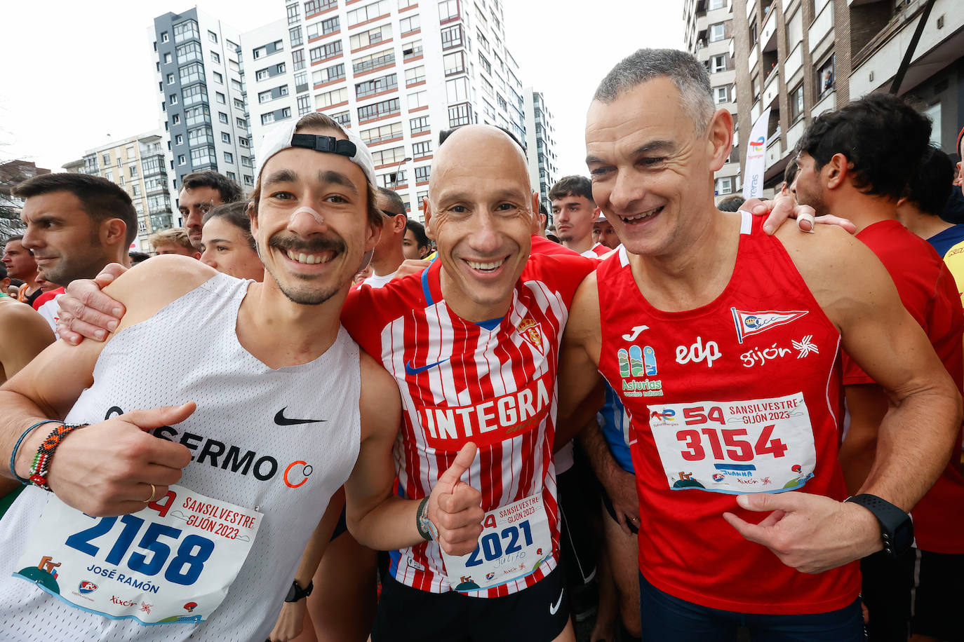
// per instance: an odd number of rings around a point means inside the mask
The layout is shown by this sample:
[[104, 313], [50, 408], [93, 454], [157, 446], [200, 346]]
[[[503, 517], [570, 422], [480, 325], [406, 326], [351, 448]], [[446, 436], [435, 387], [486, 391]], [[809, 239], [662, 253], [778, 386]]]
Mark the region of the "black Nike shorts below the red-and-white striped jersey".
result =
[[549, 642], [569, 622], [569, 596], [557, 568], [549, 577], [501, 598], [430, 593], [391, 576], [382, 581], [372, 642]]

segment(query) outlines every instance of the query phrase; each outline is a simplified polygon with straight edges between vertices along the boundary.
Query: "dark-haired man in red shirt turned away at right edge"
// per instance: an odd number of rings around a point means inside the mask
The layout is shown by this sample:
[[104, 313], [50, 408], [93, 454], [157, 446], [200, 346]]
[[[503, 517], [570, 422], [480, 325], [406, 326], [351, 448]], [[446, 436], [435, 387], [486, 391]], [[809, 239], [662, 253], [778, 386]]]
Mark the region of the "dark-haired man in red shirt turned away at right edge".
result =
[[[926, 117], [896, 96], [871, 93], [811, 124], [800, 141], [795, 184], [801, 203], [819, 214], [846, 213], [854, 221], [857, 239], [890, 272], [904, 307], [924, 328], [960, 391], [964, 313], [953, 276], [930, 244], [897, 221], [897, 201], [908, 177], [916, 175], [929, 139]], [[850, 424], [840, 460], [847, 491], [857, 494], [880, 456], [877, 433], [888, 398], [876, 377], [846, 353], [844, 386]], [[961, 447], [960, 427], [955, 453]], [[912, 512], [916, 550], [899, 560], [876, 553], [861, 562], [862, 595], [870, 611], [868, 632], [874, 642], [906, 640], [908, 624], [927, 639], [960, 636], [957, 604], [964, 598], [964, 516], [959, 508], [964, 506], [964, 477], [959, 454], [949, 462], [950, 455], [951, 449], [941, 453], [947, 466]]]

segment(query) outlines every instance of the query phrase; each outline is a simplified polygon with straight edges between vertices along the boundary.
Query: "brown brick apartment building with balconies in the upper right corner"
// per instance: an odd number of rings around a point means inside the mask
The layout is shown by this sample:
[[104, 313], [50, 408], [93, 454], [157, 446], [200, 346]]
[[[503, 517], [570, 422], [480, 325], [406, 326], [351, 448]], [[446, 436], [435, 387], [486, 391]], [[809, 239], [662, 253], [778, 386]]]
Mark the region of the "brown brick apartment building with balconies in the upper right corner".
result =
[[[892, 89], [931, 0], [733, 0], [737, 131], [770, 108], [764, 187], [779, 187], [813, 118]], [[933, 0], [897, 94], [931, 117], [932, 140], [954, 153], [964, 123], [964, 13]], [[745, 159], [740, 150], [740, 160]]]

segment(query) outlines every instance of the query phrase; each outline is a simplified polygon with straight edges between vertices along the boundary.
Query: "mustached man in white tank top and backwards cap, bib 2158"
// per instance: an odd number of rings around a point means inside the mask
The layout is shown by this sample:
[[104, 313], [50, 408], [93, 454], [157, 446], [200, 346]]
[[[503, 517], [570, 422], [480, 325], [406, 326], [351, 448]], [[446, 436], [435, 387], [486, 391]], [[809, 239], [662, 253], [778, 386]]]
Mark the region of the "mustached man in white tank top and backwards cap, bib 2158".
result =
[[[327, 116], [300, 124], [262, 148], [263, 283], [154, 259], [107, 288], [126, 313], [106, 343], [57, 343], [0, 389], [3, 475], [54, 492], [28, 487], [0, 522], [0, 637], [289, 639], [303, 610], [272, 626], [306, 594], [346, 480], [376, 545], [422, 541], [417, 502], [390, 496], [398, 388], [338, 321], [378, 240], [371, 156]], [[31, 429], [51, 417], [86, 425]], [[481, 520], [477, 491], [456, 488], [463, 454], [440, 485], [449, 542]]]

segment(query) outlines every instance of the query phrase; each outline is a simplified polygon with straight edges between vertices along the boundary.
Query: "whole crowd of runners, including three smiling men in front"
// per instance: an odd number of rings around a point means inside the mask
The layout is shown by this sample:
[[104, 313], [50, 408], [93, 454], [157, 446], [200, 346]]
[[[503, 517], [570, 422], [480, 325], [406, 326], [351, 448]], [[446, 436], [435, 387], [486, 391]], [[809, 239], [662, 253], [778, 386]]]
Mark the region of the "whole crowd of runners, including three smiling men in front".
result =
[[478, 124], [424, 227], [321, 113], [252, 193], [186, 176], [172, 256], [109, 181], [19, 184], [0, 639], [964, 639], [964, 172], [870, 94], [717, 209], [733, 130], [642, 49], [551, 226]]

